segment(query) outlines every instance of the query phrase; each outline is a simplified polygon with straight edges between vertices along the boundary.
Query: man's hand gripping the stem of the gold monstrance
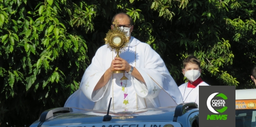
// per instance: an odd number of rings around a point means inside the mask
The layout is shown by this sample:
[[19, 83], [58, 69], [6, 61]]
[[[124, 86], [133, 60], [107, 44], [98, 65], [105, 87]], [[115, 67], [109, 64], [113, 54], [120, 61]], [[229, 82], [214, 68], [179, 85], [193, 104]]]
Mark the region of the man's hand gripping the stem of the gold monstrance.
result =
[[129, 65], [129, 63], [120, 57], [115, 57], [115, 59], [112, 60], [110, 65], [111, 71], [124, 70], [126, 72], [129, 72], [130, 68], [131, 66]]

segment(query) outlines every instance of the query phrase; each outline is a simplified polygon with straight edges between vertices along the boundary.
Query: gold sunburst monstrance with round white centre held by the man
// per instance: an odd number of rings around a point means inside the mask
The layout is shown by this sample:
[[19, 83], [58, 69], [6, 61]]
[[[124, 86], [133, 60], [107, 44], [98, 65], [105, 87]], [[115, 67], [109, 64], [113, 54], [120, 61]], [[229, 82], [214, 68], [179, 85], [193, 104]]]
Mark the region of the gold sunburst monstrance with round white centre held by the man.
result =
[[[113, 22], [113, 24], [113, 28], [107, 32], [105, 42], [107, 44], [107, 48], [109, 48], [111, 51], [115, 51], [116, 57], [120, 57], [119, 53], [124, 52], [128, 46], [129, 37], [126, 36], [127, 32], [125, 32], [124, 29], [120, 29], [120, 27], [117, 26], [117, 22]], [[115, 70], [112, 73], [124, 73], [124, 76], [121, 78], [121, 80], [128, 79], [125, 76], [125, 71], [123, 70]]]

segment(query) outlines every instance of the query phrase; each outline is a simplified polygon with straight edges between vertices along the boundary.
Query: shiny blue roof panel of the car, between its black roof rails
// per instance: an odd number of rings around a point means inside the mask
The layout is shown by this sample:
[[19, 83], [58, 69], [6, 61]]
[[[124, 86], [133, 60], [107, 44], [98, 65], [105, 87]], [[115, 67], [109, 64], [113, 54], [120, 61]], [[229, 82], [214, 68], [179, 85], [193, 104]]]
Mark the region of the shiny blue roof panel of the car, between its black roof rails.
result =
[[[170, 108], [146, 108], [134, 111], [124, 111], [124, 109], [110, 109], [109, 115], [112, 116], [110, 122], [152, 122], [152, 121], [172, 121], [175, 107]], [[46, 120], [43, 126], [69, 125], [69, 124], [97, 124], [104, 123], [103, 117], [107, 110], [80, 110], [55, 115]]]

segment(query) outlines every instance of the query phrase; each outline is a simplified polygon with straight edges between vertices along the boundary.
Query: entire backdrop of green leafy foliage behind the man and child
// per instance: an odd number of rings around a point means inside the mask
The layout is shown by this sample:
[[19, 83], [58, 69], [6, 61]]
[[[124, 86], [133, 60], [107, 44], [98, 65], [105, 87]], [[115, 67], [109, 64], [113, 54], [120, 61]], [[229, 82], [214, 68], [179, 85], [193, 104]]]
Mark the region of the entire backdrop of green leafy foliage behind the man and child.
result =
[[192, 54], [208, 84], [255, 88], [255, 6], [255, 0], [0, 0], [0, 123], [29, 126], [43, 110], [63, 107], [118, 12], [133, 18], [131, 35], [161, 55], [178, 85], [185, 82], [182, 61]]

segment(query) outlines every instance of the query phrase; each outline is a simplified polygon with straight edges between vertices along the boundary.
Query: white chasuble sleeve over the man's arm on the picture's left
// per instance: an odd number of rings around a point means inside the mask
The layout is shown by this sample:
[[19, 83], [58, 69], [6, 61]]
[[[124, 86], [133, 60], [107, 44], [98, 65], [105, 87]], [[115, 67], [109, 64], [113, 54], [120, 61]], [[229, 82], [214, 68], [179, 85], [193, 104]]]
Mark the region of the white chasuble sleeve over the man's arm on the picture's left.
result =
[[91, 101], [98, 101], [100, 100], [109, 84], [109, 81], [107, 85], [100, 88], [97, 91], [93, 91], [95, 86], [97, 85], [98, 81], [101, 79], [103, 74], [106, 72], [105, 66], [102, 65], [104, 62], [102, 62], [102, 54], [105, 54], [103, 51], [101, 51], [102, 48], [97, 50], [95, 56], [92, 58], [92, 62], [89, 65], [89, 67], [85, 70], [85, 73], [83, 75], [80, 89], [84, 92], [85, 96], [91, 100]]

